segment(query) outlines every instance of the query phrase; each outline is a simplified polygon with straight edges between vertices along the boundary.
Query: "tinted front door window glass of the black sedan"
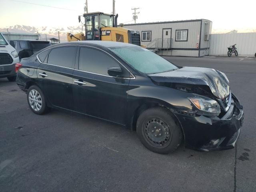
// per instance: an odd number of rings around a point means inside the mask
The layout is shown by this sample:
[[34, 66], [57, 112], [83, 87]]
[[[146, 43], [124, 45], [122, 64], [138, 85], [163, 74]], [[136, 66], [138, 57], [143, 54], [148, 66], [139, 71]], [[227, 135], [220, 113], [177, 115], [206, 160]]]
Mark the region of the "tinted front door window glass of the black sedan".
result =
[[108, 68], [119, 66], [114, 58], [100, 50], [80, 48], [79, 70], [109, 76]]

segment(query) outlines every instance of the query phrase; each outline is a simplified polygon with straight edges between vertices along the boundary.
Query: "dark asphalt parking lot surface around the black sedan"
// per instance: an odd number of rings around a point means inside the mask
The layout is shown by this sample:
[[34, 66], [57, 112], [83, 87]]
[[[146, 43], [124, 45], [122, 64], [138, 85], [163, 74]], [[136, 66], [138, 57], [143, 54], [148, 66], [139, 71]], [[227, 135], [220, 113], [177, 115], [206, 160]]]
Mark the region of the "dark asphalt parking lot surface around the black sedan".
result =
[[66, 111], [38, 116], [15, 82], [0, 79], [1, 192], [256, 191], [256, 60], [165, 57], [228, 76], [244, 106], [236, 148], [172, 154], [147, 150], [136, 132]]

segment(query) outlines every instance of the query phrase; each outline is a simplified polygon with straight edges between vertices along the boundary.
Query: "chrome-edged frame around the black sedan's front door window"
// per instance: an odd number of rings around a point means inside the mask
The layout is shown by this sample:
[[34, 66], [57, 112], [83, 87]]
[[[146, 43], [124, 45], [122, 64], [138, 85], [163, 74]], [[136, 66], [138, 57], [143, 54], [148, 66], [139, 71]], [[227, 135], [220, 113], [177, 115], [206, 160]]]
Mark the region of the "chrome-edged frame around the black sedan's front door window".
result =
[[[122, 78], [122, 77], [113, 77], [113, 76], [109, 76], [109, 75], [103, 75], [103, 74], [98, 74], [98, 73], [93, 73], [93, 72], [88, 72], [88, 71], [83, 71], [83, 70], [79, 70], [79, 56], [80, 56], [80, 48], [81, 47], [86, 47], [86, 48], [91, 48], [91, 49], [97, 49], [101, 52], [106, 53], [107, 55], [109, 55], [111, 58], [113, 58], [114, 60], [116, 60], [118, 62], [118, 64], [120, 64], [122, 67], [125, 68], [125, 70], [127, 70], [129, 72], [130, 75], [132, 75], [132, 78]], [[118, 61], [116, 58], [114, 58], [112, 55], [110, 55], [108, 52], [96, 48], [96, 47], [92, 47], [92, 46], [86, 46], [86, 45], [79, 45], [79, 50], [78, 50], [78, 66], [77, 68], [75, 68], [76, 71], [81, 71], [81, 72], [85, 72], [85, 73], [90, 73], [90, 74], [95, 74], [95, 75], [100, 75], [100, 76], [105, 76], [105, 77], [111, 77], [111, 78], [120, 78], [120, 79], [135, 79], [135, 76], [122, 64], [120, 63], [120, 61]]]

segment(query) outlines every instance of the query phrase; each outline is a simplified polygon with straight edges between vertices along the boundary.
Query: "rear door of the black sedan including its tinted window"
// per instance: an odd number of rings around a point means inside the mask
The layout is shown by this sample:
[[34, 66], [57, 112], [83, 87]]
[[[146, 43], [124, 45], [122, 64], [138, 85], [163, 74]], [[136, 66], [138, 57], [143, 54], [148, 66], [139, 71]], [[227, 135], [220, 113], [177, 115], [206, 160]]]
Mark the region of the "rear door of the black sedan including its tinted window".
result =
[[47, 102], [53, 106], [73, 110], [72, 74], [76, 51], [77, 46], [60, 46], [38, 55], [41, 64], [37, 76]]

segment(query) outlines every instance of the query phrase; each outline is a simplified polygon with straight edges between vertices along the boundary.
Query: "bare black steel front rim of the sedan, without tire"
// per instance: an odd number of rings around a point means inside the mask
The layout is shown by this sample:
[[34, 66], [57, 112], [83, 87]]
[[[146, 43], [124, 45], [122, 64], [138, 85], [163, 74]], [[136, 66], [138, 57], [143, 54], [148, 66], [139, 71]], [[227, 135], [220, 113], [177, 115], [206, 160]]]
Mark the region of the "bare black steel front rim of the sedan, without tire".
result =
[[148, 144], [156, 148], [164, 148], [172, 140], [169, 125], [158, 117], [148, 118], [148, 121], [144, 123], [143, 136]]

